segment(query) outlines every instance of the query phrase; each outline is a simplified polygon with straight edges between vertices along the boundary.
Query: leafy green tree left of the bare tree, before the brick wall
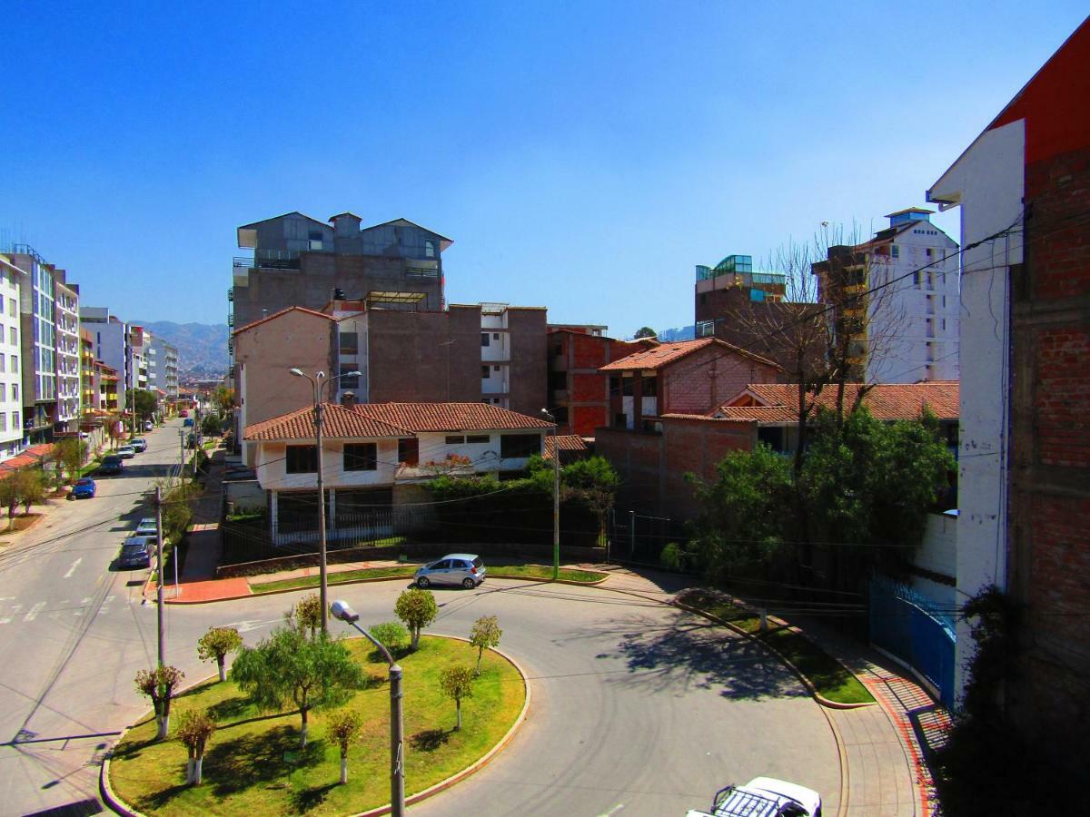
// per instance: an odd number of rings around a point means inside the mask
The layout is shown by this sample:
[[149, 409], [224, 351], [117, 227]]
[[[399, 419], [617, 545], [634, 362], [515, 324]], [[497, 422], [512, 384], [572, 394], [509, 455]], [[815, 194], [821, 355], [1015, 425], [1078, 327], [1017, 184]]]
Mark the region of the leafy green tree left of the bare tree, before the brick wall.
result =
[[715, 581], [765, 577], [785, 556], [790, 466], [767, 446], [758, 446], [727, 454], [715, 473], [715, 481], [694, 480], [703, 510], [693, 526], [693, 548]]

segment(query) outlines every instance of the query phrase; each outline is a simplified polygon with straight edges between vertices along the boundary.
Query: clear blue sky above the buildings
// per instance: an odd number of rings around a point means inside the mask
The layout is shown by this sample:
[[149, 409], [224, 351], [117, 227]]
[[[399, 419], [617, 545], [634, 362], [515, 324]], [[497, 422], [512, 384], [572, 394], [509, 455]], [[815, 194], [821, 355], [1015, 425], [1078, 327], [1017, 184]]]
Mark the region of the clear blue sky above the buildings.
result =
[[453, 239], [451, 302], [691, 324], [693, 265], [922, 205], [1086, 13], [225, 5], [0, 4], [0, 243], [126, 319], [222, 322], [237, 225], [352, 210]]

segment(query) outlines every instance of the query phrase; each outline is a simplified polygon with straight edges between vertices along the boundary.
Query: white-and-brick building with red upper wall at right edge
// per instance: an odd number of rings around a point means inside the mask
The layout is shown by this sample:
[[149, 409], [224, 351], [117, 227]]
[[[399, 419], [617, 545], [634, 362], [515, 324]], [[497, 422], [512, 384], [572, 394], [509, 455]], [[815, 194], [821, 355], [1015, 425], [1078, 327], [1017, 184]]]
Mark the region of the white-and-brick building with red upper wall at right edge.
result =
[[[1002, 706], [1063, 768], [1090, 696], [1088, 98], [1090, 20], [928, 191], [966, 247], [958, 600], [995, 585], [1019, 606]], [[960, 619], [957, 650], [961, 688]]]

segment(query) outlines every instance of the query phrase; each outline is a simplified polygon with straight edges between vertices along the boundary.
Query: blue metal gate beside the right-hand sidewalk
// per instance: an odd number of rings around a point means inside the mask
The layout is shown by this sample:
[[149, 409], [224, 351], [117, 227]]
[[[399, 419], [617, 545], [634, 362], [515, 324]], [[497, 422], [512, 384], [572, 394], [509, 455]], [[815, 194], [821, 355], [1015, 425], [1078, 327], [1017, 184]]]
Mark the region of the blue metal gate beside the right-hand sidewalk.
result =
[[955, 626], [948, 611], [911, 587], [876, 576], [870, 585], [871, 643], [905, 662], [954, 705]]

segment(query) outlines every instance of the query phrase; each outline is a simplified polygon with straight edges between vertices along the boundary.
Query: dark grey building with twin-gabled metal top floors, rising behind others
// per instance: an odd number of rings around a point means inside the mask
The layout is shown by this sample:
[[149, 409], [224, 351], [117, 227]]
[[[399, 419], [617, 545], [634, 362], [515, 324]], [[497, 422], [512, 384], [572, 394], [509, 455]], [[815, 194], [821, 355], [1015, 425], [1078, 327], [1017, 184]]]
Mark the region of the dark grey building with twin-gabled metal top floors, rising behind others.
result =
[[238, 229], [228, 300], [231, 326], [242, 327], [289, 306], [320, 309], [336, 293], [417, 293], [421, 306], [441, 309], [443, 252], [453, 242], [405, 219], [361, 229], [351, 212], [328, 222], [289, 212]]

